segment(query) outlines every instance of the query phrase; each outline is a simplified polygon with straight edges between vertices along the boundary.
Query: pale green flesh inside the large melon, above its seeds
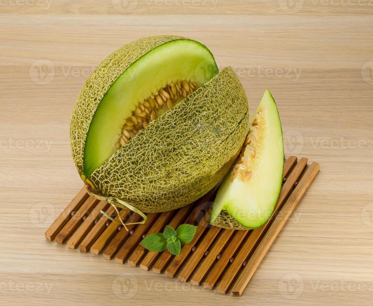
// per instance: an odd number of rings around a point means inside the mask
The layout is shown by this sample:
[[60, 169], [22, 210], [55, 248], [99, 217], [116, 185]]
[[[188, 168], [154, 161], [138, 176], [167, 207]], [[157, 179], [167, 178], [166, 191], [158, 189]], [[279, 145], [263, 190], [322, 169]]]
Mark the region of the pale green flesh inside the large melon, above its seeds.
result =
[[85, 140], [83, 178], [113, 155], [113, 143], [139, 102], [171, 82], [188, 80], [200, 87], [218, 72], [210, 51], [193, 40], [172, 40], [142, 55], [113, 82], [95, 110]]

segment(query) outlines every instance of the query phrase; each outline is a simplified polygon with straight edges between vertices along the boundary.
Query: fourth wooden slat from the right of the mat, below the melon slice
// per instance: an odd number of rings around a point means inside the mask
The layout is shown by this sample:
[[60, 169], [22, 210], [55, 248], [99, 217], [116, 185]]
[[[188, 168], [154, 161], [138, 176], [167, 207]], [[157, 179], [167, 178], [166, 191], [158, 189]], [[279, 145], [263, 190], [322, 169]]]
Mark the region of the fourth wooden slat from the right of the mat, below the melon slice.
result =
[[[209, 255], [207, 255], [206, 259], [203, 261], [201, 266], [198, 268], [198, 270], [193, 275], [190, 281], [192, 285], [199, 286], [201, 284], [203, 279], [206, 277], [207, 273], [210, 271], [211, 266], [216, 261], [216, 256], [220, 254], [220, 252], [222, 251], [224, 246], [228, 243], [228, 240], [232, 237], [234, 232], [235, 231], [233, 229], [224, 229], [222, 234], [220, 234], [219, 239], [214, 241], [214, 246], [209, 252]], [[220, 257], [220, 259], [222, 258]]]

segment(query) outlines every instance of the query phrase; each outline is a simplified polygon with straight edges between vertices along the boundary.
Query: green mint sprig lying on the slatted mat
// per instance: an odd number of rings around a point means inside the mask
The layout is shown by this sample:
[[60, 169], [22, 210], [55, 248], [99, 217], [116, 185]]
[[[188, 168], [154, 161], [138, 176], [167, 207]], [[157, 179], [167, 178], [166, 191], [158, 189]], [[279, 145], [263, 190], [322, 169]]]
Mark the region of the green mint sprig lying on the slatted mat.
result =
[[150, 234], [140, 242], [149, 251], [162, 252], [166, 248], [173, 255], [179, 255], [182, 243], [192, 241], [197, 227], [191, 224], [182, 224], [176, 229], [166, 225], [162, 233]]

